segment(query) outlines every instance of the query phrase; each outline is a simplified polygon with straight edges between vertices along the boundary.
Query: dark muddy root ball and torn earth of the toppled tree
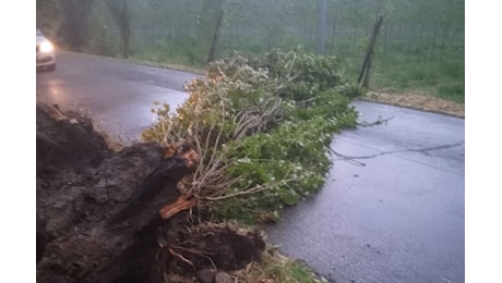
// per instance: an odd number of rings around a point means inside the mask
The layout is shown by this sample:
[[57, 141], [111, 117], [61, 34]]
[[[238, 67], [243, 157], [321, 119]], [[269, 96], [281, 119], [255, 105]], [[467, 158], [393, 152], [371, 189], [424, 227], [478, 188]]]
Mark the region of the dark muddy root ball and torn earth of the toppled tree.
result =
[[260, 258], [258, 232], [194, 220], [193, 197], [171, 209], [189, 199], [177, 184], [199, 159], [188, 144], [169, 149], [113, 152], [89, 120], [37, 104], [38, 282], [193, 282]]

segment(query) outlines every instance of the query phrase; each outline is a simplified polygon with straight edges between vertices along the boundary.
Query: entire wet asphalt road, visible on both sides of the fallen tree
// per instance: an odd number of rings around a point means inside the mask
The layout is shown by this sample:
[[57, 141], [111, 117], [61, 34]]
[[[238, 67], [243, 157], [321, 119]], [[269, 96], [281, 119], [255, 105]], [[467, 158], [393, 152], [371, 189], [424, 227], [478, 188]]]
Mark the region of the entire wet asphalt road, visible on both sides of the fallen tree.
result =
[[[37, 99], [136, 140], [153, 102], [182, 103], [195, 76], [59, 52], [55, 72], [37, 73]], [[464, 120], [354, 104], [360, 121], [392, 119], [336, 135], [325, 186], [266, 226], [270, 241], [332, 282], [464, 282]]]

